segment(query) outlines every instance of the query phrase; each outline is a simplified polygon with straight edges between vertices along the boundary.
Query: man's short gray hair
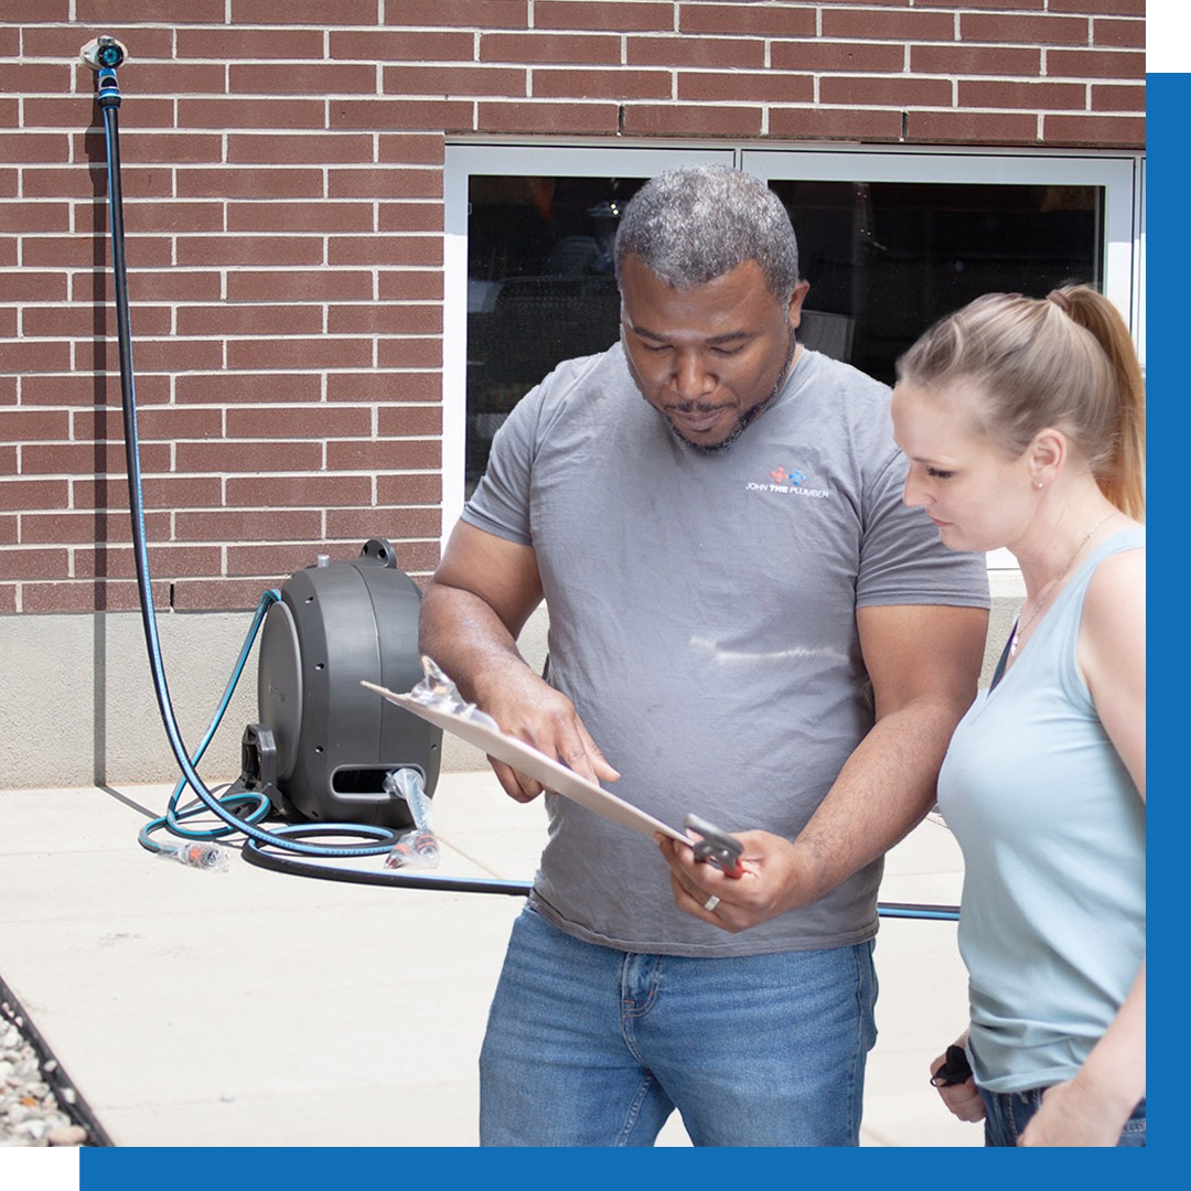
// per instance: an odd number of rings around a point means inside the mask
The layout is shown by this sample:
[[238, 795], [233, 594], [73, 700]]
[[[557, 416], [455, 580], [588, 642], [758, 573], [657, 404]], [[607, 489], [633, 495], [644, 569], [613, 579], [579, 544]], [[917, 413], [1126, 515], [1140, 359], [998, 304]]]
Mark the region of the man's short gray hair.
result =
[[632, 255], [675, 289], [705, 285], [747, 261], [756, 261], [782, 305], [798, 283], [798, 241], [781, 200], [728, 166], [682, 166], [646, 182], [625, 207], [615, 254], [617, 280]]

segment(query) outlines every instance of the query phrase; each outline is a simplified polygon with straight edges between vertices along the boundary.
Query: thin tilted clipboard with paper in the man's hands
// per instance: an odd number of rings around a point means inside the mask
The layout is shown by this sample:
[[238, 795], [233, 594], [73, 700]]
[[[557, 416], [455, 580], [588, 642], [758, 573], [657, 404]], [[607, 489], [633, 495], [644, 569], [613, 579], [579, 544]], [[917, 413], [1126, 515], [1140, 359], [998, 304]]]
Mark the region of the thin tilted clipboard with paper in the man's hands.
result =
[[481, 749], [485, 754], [494, 756], [498, 761], [504, 761], [505, 765], [511, 765], [519, 773], [541, 781], [547, 790], [553, 790], [555, 793], [579, 803], [580, 806], [586, 806], [587, 810], [594, 811], [597, 815], [611, 819], [613, 823], [621, 823], [624, 827], [632, 828], [635, 831], [642, 831], [650, 836], [656, 831], [661, 831], [662, 835], [669, 836], [672, 840], [678, 840], [680, 843], [691, 844], [692, 842], [688, 836], [675, 831], [672, 827], [667, 827], [661, 819], [655, 819], [651, 815], [647, 815], [631, 803], [626, 803], [623, 798], [617, 798], [616, 794], [609, 793], [603, 786], [580, 777], [573, 769], [568, 769], [561, 762], [547, 756], [524, 741], [519, 741], [513, 736], [506, 736], [499, 729], [490, 728], [476, 719], [435, 706], [432, 703], [425, 703], [412, 694], [398, 694], [394, 691], [378, 686], [375, 682], [362, 681], [361, 686], [366, 686], [369, 691], [375, 691], [376, 694], [388, 699], [389, 703], [395, 703], [399, 707], [413, 712], [413, 715], [425, 719], [428, 723], [435, 724], [437, 728], [442, 728], [454, 736], [459, 736], [461, 740], [467, 741], [468, 744]]

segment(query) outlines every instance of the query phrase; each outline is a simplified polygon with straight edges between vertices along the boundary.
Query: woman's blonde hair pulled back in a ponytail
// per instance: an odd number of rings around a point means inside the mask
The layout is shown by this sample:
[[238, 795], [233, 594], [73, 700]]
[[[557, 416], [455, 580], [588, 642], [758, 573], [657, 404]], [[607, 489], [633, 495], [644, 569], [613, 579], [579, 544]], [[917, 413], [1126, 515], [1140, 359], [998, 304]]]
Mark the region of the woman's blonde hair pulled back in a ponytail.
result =
[[1109, 500], [1145, 518], [1145, 381], [1124, 319], [1091, 286], [978, 298], [927, 331], [897, 375], [934, 389], [975, 382], [980, 429], [1011, 459], [1061, 430]]

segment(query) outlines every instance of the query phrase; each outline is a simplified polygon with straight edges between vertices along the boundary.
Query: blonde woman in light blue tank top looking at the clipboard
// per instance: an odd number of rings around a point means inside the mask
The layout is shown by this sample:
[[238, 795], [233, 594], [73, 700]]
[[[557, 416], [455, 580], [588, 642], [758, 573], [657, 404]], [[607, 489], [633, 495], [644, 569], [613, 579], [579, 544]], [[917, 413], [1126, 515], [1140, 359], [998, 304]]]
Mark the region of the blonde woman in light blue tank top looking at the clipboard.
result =
[[989, 1146], [1143, 1146], [1145, 397], [1128, 330], [1086, 286], [980, 298], [898, 362], [892, 412], [906, 504], [955, 550], [1008, 547], [1025, 584], [939, 778], [965, 861], [971, 1073], [940, 1056], [933, 1083]]

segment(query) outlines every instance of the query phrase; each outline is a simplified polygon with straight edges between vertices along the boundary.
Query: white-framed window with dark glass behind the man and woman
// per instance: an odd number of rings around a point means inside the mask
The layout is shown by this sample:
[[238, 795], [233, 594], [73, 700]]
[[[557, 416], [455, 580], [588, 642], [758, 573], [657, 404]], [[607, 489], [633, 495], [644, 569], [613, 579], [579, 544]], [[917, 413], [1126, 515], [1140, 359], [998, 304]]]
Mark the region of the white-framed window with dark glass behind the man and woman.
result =
[[444, 534], [513, 405], [559, 361], [616, 341], [618, 211], [697, 161], [781, 198], [811, 283], [800, 341], [881, 380], [931, 322], [996, 289], [1095, 283], [1143, 344], [1134, 154], [451, 145]]

